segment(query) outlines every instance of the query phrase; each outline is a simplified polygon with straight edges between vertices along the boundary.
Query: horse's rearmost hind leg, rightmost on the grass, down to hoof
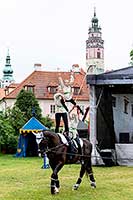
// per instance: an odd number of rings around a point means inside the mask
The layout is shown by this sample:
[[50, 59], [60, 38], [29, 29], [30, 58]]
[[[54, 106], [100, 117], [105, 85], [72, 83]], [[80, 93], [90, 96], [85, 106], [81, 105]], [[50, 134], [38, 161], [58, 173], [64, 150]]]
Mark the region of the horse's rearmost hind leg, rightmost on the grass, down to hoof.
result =
[[89, 175], [89, 178], [90, 178], [90, 185], [92, 188], [96, 188], [96, 181], [95, 181], [95, 178], [94, 178], [94, 175], [93, 175], [93, 170], [92, 170], [92, 165], [91, 165], [91, 158], [89, 159], [88, 161], [88, 165], [86, 167], [86, 171]]

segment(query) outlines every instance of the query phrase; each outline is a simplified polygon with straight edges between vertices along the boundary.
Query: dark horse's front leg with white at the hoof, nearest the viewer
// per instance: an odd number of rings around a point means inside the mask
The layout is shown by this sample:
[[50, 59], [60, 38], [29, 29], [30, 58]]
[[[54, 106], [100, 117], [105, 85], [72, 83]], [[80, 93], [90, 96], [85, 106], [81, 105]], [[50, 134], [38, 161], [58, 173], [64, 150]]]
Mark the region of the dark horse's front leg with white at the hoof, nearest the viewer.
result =
[[60, 183], [59, 183], [59, 180], [58, 180], [58, 172], [63, 167], [63, 165], [64, 165], [64, 163], [59, 162], [55, 166], [55, 168], [52, 168], [53, 169], [53, 173], [51, 175], [51, 194], [59, 193]]

